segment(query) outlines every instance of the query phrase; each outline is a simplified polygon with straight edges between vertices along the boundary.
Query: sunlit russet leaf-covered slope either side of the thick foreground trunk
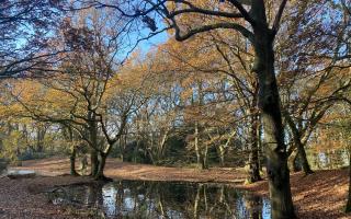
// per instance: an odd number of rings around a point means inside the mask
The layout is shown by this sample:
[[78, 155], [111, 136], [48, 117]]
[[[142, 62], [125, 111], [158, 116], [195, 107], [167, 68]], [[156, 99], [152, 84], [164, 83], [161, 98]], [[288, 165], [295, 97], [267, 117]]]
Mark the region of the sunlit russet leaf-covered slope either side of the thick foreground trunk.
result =
[[[294, 173], [291, 187], [298, 218], [351, 218], [343, 212], [348, 196], [348, 170], [316, 171], [312, 175]], [[268, 196], [267, 181], [239, 186]]]

